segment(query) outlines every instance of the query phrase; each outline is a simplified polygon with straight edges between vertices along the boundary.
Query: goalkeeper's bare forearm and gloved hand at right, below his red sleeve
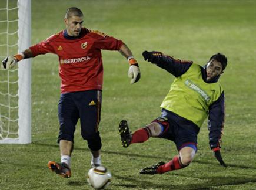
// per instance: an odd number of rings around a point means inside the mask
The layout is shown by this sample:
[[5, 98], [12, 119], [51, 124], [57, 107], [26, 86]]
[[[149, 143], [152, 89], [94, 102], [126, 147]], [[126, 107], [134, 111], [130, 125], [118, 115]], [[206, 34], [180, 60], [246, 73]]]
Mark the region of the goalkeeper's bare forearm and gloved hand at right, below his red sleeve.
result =
[[136, 59], [134, 59], [134, 56], [132, 55], [131, 50], [128, 48], [125, 43], [121, 46], [119, 49], [119, 52], [122, 56], [124, 56], [129, 64], [129, 70], [128, 70], [128, 77], [131, 78], [131, 84], [136, 83], [141, 78], [141, 72], [139, 70], [139, 65]]

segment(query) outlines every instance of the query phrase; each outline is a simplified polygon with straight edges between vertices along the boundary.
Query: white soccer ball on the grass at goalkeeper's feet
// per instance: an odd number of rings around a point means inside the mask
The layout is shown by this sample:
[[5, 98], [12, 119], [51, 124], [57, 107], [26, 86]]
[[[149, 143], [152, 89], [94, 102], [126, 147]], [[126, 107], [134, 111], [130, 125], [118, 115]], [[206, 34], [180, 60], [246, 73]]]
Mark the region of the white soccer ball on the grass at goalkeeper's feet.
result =
[[111, 173], [104, 166], [91, 168], [87, 174], [87, 181], [94, 189], [104, 189], [111, 182]]

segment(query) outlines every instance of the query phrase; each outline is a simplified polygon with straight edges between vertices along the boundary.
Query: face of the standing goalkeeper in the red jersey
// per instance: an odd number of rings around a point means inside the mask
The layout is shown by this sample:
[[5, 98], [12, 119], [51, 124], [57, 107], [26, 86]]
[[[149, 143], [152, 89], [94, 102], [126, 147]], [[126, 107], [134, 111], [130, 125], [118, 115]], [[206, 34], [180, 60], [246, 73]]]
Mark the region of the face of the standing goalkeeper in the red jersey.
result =
[[66, 24], [66, 29], [69, 36], [79, 36], [82, 29], [83, 18], [79, 16], [71, 16], [64, 19]]

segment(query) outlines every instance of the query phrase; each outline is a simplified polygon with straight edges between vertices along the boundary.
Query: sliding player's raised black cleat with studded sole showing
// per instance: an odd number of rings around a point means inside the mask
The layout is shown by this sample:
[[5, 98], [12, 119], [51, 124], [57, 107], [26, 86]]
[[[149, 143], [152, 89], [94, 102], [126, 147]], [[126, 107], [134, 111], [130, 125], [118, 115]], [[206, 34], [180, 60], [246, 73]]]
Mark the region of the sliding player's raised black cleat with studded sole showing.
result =
[[118, 130], [121, 136], [122, 146], [125, 148], [129, 147], [132, 140], [132, 134], [126, 120], [120, 122]]

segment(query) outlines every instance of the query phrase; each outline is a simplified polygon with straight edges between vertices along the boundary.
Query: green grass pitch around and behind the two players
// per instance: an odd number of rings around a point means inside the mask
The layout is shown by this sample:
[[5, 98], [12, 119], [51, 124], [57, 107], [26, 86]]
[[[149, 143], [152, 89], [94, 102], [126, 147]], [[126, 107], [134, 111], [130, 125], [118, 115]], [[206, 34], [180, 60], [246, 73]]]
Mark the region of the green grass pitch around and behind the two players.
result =
[[[0, 5], [5, 1], [1, 1]], [[109, 189], [256, 189], [256, 1], [32, 1], [32, 44], [64, 29], [65, 10], [78, 6], [84, 26], [122, 39], [141, 66], [141, 80], [129, 84], [128, 63], [118, 52], [103, 52], [104, 90], [100, 131], [102, 164], [112, 172]], [[139, 169], [168, 161], [174, 143], [151, 138], [122, 148], [118, 123], [131, 130], [160, 114], [161, 101], [174, 77], [145, 62], [144, 50], [159, 50], [204, 65], [217, 52], [228, 57], [221, 77], [226, 97], [221, 167], [208, 146], [205, 122], [198, 153], [189, 167], [162, 175], [139, 175]], [[57, 104], [58, 57], [32, 60], [32, 144], [0, 145], [0, 189], [91, 189], [85, 174], [91, 155], [75, 133], [72, 177], [52, 173], [46, 164], [59, 161]]]

